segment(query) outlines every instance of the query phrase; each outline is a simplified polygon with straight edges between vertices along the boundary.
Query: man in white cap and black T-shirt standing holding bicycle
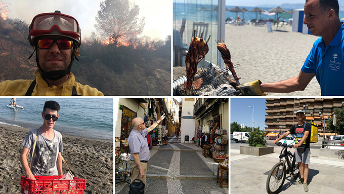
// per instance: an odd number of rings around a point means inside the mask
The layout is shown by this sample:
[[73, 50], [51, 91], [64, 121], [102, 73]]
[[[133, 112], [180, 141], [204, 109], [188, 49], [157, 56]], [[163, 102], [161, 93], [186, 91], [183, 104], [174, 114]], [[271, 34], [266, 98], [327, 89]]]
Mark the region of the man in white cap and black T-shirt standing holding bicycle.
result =
[[273, 141], [274, 144], [279, 140], [285, 138], [290, 134], [296, 136], [295, 140], [295, 157], [296, 162], [298, 163], [298, 169], [300, 172], [300, 179], [296, 184], [304, 184], [304, 189], [308, 191], [307, 179], [308, 179], [308, 165], [310, 164], [310, 139], [311, 136], [311, 125], [307, 125], [304, 122], [305, 112], [303, 110], [298, 110], [296, 112], [297, 124], [293, 125], [289, 131], [285, 132], [281, 137]]

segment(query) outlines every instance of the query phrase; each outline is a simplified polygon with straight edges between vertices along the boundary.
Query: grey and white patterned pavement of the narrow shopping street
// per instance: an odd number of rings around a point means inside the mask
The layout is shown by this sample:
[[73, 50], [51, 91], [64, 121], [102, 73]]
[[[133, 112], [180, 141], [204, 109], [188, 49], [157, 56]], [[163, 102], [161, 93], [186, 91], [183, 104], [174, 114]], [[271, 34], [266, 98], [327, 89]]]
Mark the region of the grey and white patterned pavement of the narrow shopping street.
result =
[[[167, 145], [153, 146], [147, 163], [145, 193], [228, 193], [228, 185], [216, 183], [218, 163], [202, 156], [194, 143], [180, 143], [169, 136]], [[117, 193], [128, 193], [126, 183], [116, 184]]]

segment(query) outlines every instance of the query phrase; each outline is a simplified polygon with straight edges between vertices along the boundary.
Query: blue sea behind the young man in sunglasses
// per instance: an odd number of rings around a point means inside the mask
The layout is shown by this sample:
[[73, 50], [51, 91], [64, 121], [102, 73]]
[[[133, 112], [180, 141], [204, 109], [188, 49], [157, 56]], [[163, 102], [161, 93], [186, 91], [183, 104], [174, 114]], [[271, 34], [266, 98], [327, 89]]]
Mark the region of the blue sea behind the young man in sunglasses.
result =
[[62, 134], [93, 139], [113, 140], [113, 98], [17, 98], [24, 109], [7, 107], [11, 97], [0, 98], [0, 124], [38, 128], [43, 124], [44, 103], [60, 104], [54, 129]]

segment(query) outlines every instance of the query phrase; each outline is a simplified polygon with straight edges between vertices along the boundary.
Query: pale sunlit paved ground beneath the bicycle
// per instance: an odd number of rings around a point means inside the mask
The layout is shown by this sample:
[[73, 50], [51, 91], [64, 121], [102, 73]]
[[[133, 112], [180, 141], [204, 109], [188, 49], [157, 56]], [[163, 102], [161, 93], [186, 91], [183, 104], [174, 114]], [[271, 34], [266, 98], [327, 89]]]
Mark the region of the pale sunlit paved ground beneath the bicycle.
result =
[[[267, 193], [266, 181], [271, 168], [279, 162], [281, 147], [261, 157], [239, 154], [231, 149], [231, 193]], [[292, 150], [291, 150], [292, 151]], [[319, 157], [319, 150], [311, 149], [308, 193], [343, 193], [344, 160]], [[302, 184], [287, 175], [280, 193], [306, 193]]]

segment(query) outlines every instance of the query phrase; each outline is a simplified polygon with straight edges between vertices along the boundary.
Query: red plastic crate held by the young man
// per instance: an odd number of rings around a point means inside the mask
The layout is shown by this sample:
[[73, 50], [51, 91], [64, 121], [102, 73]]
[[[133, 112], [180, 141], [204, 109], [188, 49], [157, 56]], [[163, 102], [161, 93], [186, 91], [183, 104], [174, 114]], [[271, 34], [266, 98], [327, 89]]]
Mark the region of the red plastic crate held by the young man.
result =
[[[86, 179], [59, 180], [62, 176], [34, 176], [36, 180], [21, 176], [22, 194], [83, 194]], [[25, 192], [27, 191], [27, 192]]]

